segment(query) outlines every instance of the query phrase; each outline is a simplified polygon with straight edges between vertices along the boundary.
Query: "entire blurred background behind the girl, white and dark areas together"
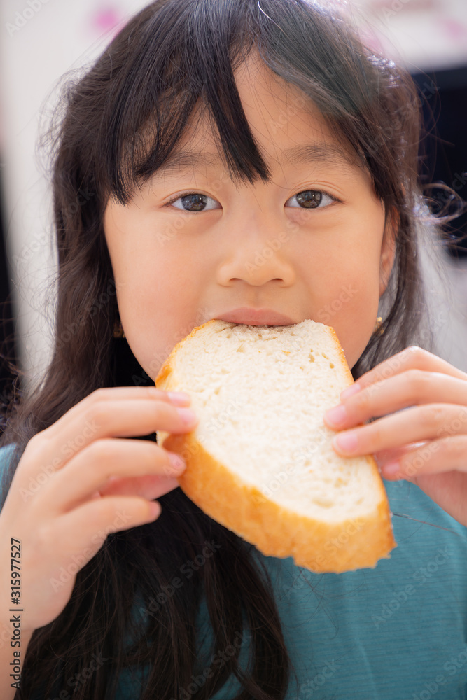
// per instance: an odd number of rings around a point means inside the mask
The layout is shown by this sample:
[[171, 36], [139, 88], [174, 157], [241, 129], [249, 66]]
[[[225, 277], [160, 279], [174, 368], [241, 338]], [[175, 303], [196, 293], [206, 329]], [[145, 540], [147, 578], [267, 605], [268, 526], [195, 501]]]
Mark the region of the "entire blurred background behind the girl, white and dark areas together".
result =
[[[216, 0], [211, 0], [215, 2]], [[39, 383], [50, 358], [55, 271], [48, 162], [39, 137], [63, 76], [91, 64], [141, 0], [1, 0], [0, 344], [21, 384]], [[351, 0], [365, 42], [407, 68], [424, 102], [421, 181], [467, 200], [467, 0]], [[449, 206], [442, 190], [433, 198]], [[466, 240], [456, 247], [455, 237]], [[445, 227], [424, 260], [436, 352], [467, 372], [467, 214]], [[2, 323], [3, 322], [3, 323]], [[0, 395], [13, 375], [0, 357]]]

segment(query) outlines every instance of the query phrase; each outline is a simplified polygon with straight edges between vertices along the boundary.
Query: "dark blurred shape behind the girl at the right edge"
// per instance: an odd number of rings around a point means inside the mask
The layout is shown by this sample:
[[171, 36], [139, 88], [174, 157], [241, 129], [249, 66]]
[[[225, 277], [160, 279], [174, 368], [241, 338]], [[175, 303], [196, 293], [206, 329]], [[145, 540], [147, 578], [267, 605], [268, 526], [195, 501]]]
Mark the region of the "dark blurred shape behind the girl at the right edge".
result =
[[[433, 73], [412, 73], [423, 103], [426, 138], [421, 144], [421, 183], [443, 182], [467, 200], [467, 66]], [[452, 214], [445, 190], [426, 193], [434, 213]], [[459, 241], [459, 237], [463, 240]], [[467, 211], [445, 225], [446, 252], [467, 258]]]

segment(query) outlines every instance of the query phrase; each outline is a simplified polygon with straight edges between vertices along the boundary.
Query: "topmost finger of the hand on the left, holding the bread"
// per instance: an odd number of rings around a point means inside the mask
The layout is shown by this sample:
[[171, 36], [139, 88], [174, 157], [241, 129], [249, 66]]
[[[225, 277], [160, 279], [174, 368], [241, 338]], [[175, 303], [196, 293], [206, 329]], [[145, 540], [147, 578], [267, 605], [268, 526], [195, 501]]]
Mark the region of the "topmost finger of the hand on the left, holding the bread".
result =
[[[139, 391], [137, 391], [139, 390]], [[184, 433], [195, 423], [183, 418], [186, 408], [176, 407], [167, 395], [155, 387], [119, 387], [98, 389], [71, 408], [52, 426], [29, 440], [22, 459], [22, 481], [33, 479], [35, 486], [48, 482], [95, 440], [104, 437], [136, 437], [155, 430]], [[115, 399], [118, 395], [120, 398]], [[22, 485], [22, 484], [21, 484]]]

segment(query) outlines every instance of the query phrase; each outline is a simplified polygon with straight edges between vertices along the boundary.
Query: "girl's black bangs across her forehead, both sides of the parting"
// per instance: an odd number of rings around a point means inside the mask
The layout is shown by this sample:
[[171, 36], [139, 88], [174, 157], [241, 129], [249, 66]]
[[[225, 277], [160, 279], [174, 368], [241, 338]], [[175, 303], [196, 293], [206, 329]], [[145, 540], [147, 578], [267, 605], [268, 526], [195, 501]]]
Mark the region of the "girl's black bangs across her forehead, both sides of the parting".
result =
[[253, 46], [365, 162], [356, 115], [372, 99], [378, 71], [363, 57], [356, 62], [338, 18], [317, 8], [305, 0], [158, 0], [139, 13], [94, 68], [111, 74], [93, 159], [103, 191], [127, 204], [170, 158], [195, 113], [207, 113], [232, 181], [268, 181], [234, 79]]

